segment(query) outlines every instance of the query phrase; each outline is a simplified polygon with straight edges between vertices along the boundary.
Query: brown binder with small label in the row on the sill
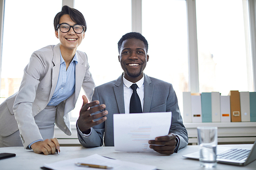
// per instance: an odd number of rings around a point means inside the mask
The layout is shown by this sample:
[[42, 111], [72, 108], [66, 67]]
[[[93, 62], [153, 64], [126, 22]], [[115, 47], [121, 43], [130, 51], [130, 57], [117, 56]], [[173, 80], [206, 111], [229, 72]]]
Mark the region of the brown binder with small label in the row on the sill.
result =
[[241, 122], [240, 95], [238, 90], [229, 91], [231, 122]]

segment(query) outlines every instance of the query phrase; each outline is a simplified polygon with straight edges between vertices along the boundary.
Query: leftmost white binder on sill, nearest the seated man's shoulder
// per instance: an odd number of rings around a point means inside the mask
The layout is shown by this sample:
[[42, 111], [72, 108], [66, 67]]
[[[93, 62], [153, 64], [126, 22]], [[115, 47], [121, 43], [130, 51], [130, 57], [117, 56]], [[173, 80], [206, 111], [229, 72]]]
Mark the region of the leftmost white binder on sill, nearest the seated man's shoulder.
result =
[[191, 93], [183, 92], [183, 121], [192, 122]]

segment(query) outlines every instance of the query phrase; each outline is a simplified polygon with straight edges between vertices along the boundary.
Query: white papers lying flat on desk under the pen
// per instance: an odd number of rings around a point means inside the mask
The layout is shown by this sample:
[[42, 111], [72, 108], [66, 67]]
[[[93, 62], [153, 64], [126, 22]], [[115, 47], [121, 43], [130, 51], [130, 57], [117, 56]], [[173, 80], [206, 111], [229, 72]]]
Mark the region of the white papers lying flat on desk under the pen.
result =
[[45, 163], [44, 167], [50, 168], [50, 169], [56, 169], [56, 170], [79, 170], [79, 169], [99, 169], [99, 168], [92, 168], [92, 167], [80, 167], [76, 166], [75, 163], [87, 163], [87, 164], [95, 164], [95, 165], [103, 165], [103, 166], [109, 166], [113, 167], [112, 169], [119, 169], [119, 170], [126, 170], [126, 169], [134, 169], [134, 170], [153, 170], [156, 169], [156, 166], [153, 165], [145, 165], [140, 163], [134, 163], [134, 162], [128, 162], [128, 161], [121, 161], [117, 159], [110, 159], [103, 156], [100, 156], [98, 154], [94, 154], [88, 157], [83, 158], [75, 158], [75, 159], [69, 159], [69, 160], [63, 160], [58, 161], [55, 163]]

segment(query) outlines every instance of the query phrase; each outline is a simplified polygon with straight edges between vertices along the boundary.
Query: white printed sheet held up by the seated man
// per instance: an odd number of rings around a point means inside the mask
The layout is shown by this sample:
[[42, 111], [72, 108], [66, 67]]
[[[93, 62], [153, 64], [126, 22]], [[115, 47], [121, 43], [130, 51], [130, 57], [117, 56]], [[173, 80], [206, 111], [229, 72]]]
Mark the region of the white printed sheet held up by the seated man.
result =
[[172, 112], [114, 114], [115, 151], [155, 152], [148, 140], [168, 135]]

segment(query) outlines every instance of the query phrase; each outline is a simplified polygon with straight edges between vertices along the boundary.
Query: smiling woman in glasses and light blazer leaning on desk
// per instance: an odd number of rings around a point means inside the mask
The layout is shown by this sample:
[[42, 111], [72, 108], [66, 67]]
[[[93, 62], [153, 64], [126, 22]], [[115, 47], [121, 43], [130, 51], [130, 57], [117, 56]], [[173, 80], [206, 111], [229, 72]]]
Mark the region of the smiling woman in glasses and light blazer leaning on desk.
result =
[[95, 87], [87, 55], [76, 51], [86, 20], [63, 6], [54, 18], [60, 43], [34, 52], [24, 69], [19, 91], [0, 105], [0, 147], [24, 146], [45, 155], [59, 151], [54, 124], [71, 135], [69, 112], [81, 87], [91, 99]]

